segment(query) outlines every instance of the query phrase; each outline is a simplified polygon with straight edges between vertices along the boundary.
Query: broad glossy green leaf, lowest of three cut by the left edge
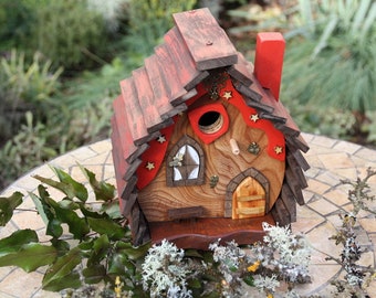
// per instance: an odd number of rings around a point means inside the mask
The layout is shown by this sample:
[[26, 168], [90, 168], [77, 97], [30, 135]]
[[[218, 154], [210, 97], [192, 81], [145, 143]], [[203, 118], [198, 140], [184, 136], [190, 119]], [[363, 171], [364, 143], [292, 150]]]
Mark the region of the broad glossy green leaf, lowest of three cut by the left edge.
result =
[[53, 263], [56, 258], [56, 249], [53, 246], [44, 246], [39, 243], [24, 244], [17, 253], [0, 257], [0, 267], [18, 266], [27, 273]]

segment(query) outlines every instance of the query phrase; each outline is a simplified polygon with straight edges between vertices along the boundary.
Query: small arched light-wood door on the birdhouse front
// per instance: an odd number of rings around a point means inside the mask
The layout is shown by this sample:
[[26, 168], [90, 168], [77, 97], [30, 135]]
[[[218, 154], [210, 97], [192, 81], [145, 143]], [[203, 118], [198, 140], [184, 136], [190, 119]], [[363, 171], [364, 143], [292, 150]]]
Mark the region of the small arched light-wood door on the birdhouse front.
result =
[[232, 219], [263, 216], [265, 199], [261, 183], [252, 177], [244, 178], [232, 193]]

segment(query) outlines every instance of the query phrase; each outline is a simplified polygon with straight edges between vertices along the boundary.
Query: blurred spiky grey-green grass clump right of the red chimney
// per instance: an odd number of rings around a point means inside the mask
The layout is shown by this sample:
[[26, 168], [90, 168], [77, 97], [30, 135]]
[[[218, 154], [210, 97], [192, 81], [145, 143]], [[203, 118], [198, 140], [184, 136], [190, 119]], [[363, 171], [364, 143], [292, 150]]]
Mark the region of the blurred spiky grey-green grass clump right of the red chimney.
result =
[[282, 94], [302, 104], [375, 110], [376, 3], [299, 2], [299, 25], [286, 34], [294, 39], [286, 51]]

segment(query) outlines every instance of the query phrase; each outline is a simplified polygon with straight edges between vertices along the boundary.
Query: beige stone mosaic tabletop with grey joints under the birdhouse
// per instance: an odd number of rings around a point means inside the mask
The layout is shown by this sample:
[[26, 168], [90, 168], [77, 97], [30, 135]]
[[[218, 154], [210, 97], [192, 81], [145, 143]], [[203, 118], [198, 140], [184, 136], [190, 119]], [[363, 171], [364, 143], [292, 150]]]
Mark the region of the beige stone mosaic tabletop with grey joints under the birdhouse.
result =
[[[341, 266], [326, 257], [338, 257], [341, 247], [336, 246], [328, 237], [332, 236], [341, 225], [338, 214], [351, 211], [352, 205], [347, 200], [347, 185], [341, 180], [354, 180], [364, 177], [367, 168], [376, 169], [376, 151], [346, 141], [330, 139], [322, 136], [303, 134], [311, 149], [305, 155], [311, 169], [306, 171], [309, 188], [304, 190], [306, 204], [299, 206], [297, 221], [292, 224], [294, 233], [304, 233], [313, 247], [311, 260], [312, 283], [299, 286], [301, 295], [321, 295], [332, 297], [333, 287], [331, 281], [343, 277]], [[76, 180], [86, 182], [80, 171], [79, 164], [95, 172], [97, 179], [115, 184], [115, 173], [111, 156], [111, 141], [103, 140], [59, 157], [49, 164], [58, 166], [72, 174]], [[33, 207], [28, 192], [36, 190], [38, 181], [33, 175], [54, 178], [49, 164], [43, 164], [23, 178], [15, 181], [0, 195], [10, 195], [14, 191], [25, 194], [21, 209]], [[376, 178], [369, 180], [369, 187], [376, 194]], [[59, 198], [62, 194], [55, 191], [51, 194]], [[372, 207], [376, 209], [376, 204]], [[361, 259], [363, 265], [375, 267], [376, 262], [376, 220], [367, 213], [359, 213], [359, 226], [365, 230], [358, 241], [362, 247], [367, 249]], [[41, 220], [33, 213], [19, 211], [11, 222], [0, 228], [0, 238], [6, 237], [18, 228], [30, 227], [43, 235], [44, 227]], [[59, 294], [43, 291], [41, 289], [42, 273], [25, 274], [19, 268], [0, 267], [0, 297], [1, 298], [36, 298], [60, 297]], [[370, 297], [376, 297], [376, 283], [368, 287]]]

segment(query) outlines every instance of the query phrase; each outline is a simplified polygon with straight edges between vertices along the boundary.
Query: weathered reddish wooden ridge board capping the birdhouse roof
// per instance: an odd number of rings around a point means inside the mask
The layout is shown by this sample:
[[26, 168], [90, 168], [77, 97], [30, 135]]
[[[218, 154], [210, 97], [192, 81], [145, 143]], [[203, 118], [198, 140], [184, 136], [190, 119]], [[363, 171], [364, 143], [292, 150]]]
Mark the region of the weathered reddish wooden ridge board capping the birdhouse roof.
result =
[[175, 13], [174, 21], [197, 70], [206, 71], [237, 63], [237, 50], [209, 9]]

